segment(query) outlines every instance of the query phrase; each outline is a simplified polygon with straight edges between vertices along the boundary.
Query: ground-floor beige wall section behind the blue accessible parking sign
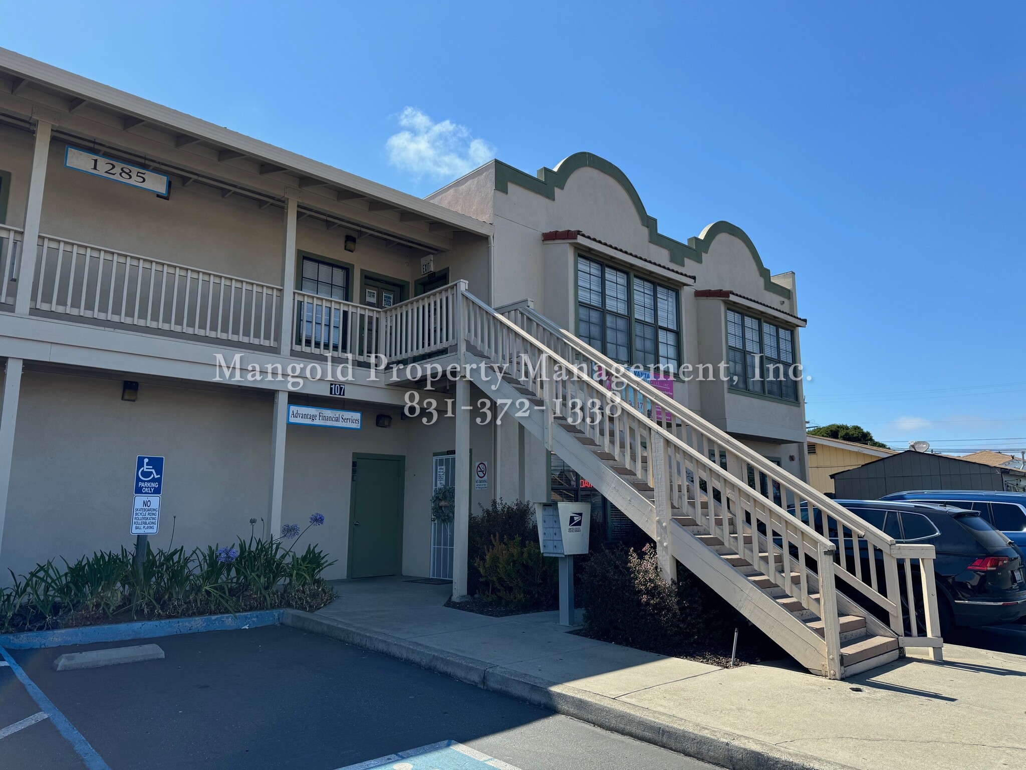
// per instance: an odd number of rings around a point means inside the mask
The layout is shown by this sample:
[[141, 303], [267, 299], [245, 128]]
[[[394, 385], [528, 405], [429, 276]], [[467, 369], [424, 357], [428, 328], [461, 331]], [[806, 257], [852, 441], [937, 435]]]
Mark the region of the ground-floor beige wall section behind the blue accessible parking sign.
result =
[[[26, 371], [0, 567], [73, 562], [130, 548], [135, 456], [166, 458], [160, 533], [166, 547], [226, 543], [266, 516], [271, 398], [240, 389], [141, 385], [121, 400], [122, 378]], [[177, 516], [176, 519], [173, 516]]]

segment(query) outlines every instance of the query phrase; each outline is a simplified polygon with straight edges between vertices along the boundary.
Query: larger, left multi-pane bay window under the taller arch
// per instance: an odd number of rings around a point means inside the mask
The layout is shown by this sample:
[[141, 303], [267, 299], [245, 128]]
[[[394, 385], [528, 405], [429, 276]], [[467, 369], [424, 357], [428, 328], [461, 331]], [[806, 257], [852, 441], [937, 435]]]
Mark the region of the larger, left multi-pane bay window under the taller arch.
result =
[[578, 257], [578, 336], [614, 360], [676, 372], [679, 316], [676, 290]]

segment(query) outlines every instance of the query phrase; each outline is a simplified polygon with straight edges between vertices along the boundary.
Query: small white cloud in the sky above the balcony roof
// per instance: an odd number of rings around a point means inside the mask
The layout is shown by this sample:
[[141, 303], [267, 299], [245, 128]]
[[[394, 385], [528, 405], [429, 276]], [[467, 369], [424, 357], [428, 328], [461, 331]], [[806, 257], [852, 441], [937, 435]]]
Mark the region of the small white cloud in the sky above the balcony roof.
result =
[[496, 148], [471, 139], [470, 129], [451, 120], [435, 123], [416, 107], [399, 113], [404, 129], [385, 143], [388, 161], [417, 177], [456, 179], [496, 156]]

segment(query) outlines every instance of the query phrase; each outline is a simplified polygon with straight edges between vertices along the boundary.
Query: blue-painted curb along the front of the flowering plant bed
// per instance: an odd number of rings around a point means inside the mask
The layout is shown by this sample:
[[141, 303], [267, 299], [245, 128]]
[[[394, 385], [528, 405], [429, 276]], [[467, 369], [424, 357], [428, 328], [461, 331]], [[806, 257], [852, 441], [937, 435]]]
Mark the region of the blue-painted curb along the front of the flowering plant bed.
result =
[[140, 620], [132, 623], [86, 625], [80, 628], [56, 628], [51, 631], [24, 631], [0, 636], [0, 647], [8, 650], [37, 650], [43, 647], [90, 645], [94, 642], [125, 642], [131, 639], [157, 639], [180, 633], [227, 631], [256, 628], [281, 623], [282, 610], [258, 610], [236, 615], [200, 615], [192, 618]]

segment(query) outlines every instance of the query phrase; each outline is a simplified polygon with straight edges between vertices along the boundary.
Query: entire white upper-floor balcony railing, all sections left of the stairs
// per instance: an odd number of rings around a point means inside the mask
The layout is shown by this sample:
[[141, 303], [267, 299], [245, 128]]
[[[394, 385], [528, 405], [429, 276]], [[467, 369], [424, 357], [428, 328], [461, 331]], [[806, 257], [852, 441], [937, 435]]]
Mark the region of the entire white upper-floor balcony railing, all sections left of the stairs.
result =
[[[12, 303], [22, 231], [0, 226], [0, 300]], [[31, 306], [78, 318], [277, 348], [280, 286], [40, 235]], [[374, 308], [295, 292], [291, 349], [355, 360], [418, 359], [458, 342], [460, 283]]]

